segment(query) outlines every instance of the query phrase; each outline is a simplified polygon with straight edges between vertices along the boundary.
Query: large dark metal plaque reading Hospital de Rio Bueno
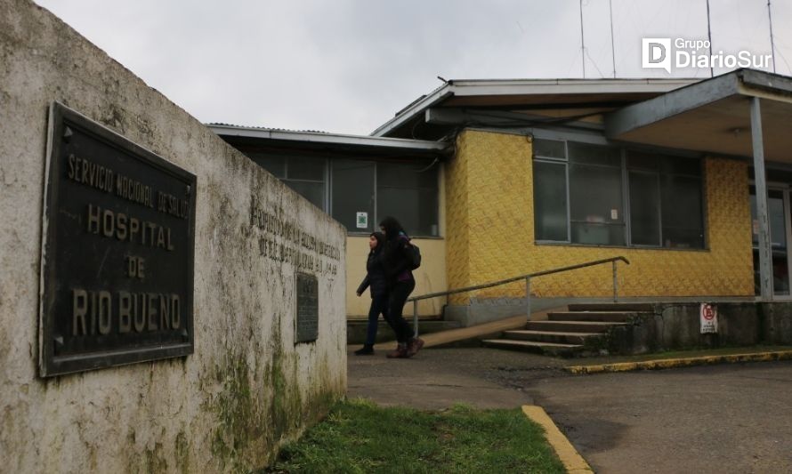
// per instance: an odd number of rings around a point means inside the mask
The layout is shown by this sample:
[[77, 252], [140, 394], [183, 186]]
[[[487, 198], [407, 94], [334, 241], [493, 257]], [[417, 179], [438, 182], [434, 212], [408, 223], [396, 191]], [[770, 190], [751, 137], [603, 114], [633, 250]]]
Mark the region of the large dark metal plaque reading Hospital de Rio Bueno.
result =
[[192, 353], [195, 186], [194, 174], [53, 103], [43, 377]]

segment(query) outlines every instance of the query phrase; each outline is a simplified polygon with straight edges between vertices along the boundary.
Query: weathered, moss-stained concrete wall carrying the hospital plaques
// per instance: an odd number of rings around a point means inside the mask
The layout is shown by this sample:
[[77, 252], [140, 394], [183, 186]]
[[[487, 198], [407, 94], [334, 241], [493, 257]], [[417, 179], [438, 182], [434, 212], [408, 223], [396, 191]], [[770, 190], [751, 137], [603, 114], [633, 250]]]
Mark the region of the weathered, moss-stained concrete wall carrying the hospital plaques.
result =
[[[194, 354], [38, 377], [47, 109], [76, 109], [198, 176]], [[8, 472], [246, 471], [346, 389], [345, 230], [49, 12], [0, 2], [0, 459]], [[254, 204], [257, 203], [257, 204]], [[320, 237], [319, 339], [295, 345], [295, 248]], [[79, 244], [77, 244], [79, 245]], [[302, 250], [301, 250], [302, 251]]]

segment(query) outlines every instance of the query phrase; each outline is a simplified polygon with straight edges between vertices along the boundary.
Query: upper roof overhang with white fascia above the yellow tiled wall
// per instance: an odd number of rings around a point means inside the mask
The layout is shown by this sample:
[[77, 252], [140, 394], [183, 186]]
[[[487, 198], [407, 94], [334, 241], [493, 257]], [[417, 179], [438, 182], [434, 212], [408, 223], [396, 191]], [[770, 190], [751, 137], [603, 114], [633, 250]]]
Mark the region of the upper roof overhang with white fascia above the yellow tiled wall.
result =
[[528, 110], [623, 107], [699, 79], [453, 80], [400, 110], [372, 136], [409, 136], [432, 108]]

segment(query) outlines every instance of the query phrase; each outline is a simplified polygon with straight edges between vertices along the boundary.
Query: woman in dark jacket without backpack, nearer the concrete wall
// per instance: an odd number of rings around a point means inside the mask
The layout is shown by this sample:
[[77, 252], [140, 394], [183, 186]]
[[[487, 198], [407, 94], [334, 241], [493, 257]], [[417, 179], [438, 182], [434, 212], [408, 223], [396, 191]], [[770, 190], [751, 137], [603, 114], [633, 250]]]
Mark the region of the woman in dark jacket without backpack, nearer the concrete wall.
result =
[[385, 237], [382, 232], [372, 232], [368, 236], [368, 261], [366, 261], [366, 277], [358, 286], [358, 296], [370, 287], [371, 307], [368, 309], [368, 327], [366, 328], [366, 342], [363, 347], [355, 350], [356, 356], [370, 356], [374, 354], [374, 342], [376, 340], [376, 326], [379, 315], [382, 314], [385, 321], [388, 320], [388, 285], [385, 282], [385, 272], [382, 262], [379, 261], [382, 253]]

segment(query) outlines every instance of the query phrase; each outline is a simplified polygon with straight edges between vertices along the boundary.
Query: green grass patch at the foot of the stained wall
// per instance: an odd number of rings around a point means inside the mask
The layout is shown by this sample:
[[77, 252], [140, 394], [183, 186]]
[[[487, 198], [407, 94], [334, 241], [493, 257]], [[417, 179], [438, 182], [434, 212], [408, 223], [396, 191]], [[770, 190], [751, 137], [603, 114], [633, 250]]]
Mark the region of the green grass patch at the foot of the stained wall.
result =
[[520, 409], [442, 412], [381, 407], [362, 399], [333, 407], [263, 472], [564, 472], [543, 430]]

